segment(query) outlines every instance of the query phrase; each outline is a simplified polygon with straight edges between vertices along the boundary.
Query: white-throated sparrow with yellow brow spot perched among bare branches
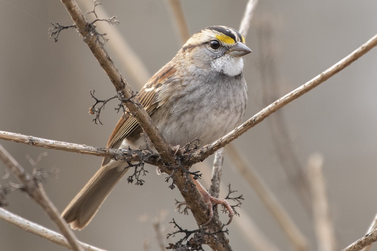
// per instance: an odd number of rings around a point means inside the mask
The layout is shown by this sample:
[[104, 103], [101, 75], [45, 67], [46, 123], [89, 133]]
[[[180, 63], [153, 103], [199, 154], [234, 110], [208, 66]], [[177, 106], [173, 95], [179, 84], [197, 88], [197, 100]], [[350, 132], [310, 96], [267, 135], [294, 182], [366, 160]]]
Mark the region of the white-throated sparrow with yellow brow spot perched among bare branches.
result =
[[[251, 52], [244, 43], [232, 28], [202, 29], [141, 89], [139, 101], [169, 144], [184, 146], [195, 138], [209, 144], [241, 123], [247, 105], [242, 56]], [[107, 147], [138, 149], [145, 145], [142, 132], [135, 118], [126, 114]], [[127, 165], [104, 158], [100, 170], [62, 213], [73, 229], [89, 224]]]

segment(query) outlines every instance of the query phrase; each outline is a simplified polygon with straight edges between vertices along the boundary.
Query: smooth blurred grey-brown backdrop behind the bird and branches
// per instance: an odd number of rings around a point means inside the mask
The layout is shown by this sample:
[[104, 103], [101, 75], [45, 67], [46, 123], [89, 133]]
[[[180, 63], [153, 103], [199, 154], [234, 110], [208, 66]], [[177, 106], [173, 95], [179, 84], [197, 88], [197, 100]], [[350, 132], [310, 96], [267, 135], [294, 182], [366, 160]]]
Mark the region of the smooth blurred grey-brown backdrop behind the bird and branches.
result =
[[[211, 25], [239, 28], [247, 0], [182, 1], [190, 35]], [[82, 2], [83, 11], [92, 10]], [[182, 43], [172, 23], [171, 10], [163, 0], [102, 1], [108, 16], [118, 16], [115, 28], [127, 40], [152, 76], [180, 49]], [[269, 102], [309, 81], [377, 32], [377, 2], [354, 1], [259, 1], [246, 42], [253, 50], [245, 58], [249, 104], [245, 119]], [[89, 15], [93, 18], [93, 15]], [[105, 18], [105, 17], [100, 17]], [[0, 130], [92, 146], [106, 146], [120, 115], [106, 105], [101, 113], [104, 125], [95, 125], [88, 108], [94, 103], [89, 91], [106, 99], [115, 89], [75, 30], [64, 30], [55, 43], [48, 38], [50, 21], [72, 24], [60, 1], [0, 1]], [[109, 26], [110, 27], [110, 26]], [[111, 27], [113, 28], [113, 27]], [[108, 30], [102, 30], [112, 34]], [[110, 56], [134, 90], [140, 85], [126, 70], [112, 41], [106, 44]], [[362, 237], [377, 211], [377, 49], [319, 87], [271, 115], [233, 141], [243, 156], [270, 187], [308, 238], [310, 250], [318, 243], [314, 231], [308, 191], [305, 187], [308, 158], [323, 155], [332, 232], [342, 249]], [[141, 75], [141, 73], [140, 73]], [[141, 76], [140, 76], [141, 77]], [[141, 77], [142, 78], [142, 77]], [[1, 141], [7, 151], [28, 172], [26, 154], [45, 170], [57, 168], [58, 178], [48, 178], [44, 188], [62, 211], [98, 170], [101, 158]], [[211, 165], [213, 157], [206, 165]], [[293, 250], [286, 235], [264, 207], [254, 190], [225, 155], [222, 183], [244, 195], [242, 217], [250, 217], [259, 230], [280, 250]], [[170, 190], [164, 176], [147, 168], [143, 186], [123, 179], [106, 199], [92, 222], [78, 239], [107, 250], [160, 250], [155, 222], [162, 233], [172, 232], [172, 218], [184, 228], [195, 229], [192, 214], [174, 211], [178, 189]], [[5, 166], [0, 163], [1, 174]], [[210, 180], [205, 175], [202, 180]], [[5, 184], [6, 181], [0, 181]], [[203, 184], [206, 184], [203, 181]], [[208, 186], [206, 186], [208, 187]], [[223, 190], [221, 196], [227, 191]], [[41, 208], [24, 193], [7, 196], [7, 210], [56, 230]], [[228, 216], [220, 215], [223, 222]], [[244, 218], [244, 219], [245, 219]], [[227, 228], [234, 250], [257, 250], [253, 236], [237, 223]], [[177, 235], [178, 237], [183, 237]], [[22, 240], [22, 241], [20, 241]], [[166, 243], [178, 240], [164, 239]], [[66, 250], [48, 240], [0, 222], [3, 250]], [[206, 247], [208, 250], [208, 247]], [[377, 250], [377, 245], [372, 248]]]

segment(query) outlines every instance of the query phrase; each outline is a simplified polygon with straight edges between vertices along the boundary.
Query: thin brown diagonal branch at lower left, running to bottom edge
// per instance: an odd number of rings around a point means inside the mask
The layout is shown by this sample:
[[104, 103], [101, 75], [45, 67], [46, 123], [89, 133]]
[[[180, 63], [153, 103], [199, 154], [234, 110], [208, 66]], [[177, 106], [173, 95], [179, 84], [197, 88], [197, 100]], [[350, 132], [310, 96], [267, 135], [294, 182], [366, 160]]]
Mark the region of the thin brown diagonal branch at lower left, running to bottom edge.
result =
[[22, 190], [28, 193], [28, 195], [39, 204], [43, 210], [48, 214], [50, 219], [57, 225], [61, 233], [67, 238], [71, 248], [75, 251], [83, 251], [83, 248], [73, 233], [68, 227], [68, 224], [60, 217], [60, 213], [52, 204], [44, 192], [42, 184], [37, 180], [37, 177], [31, 177], [25, 170], [18, 164], [18, 162], [0, 145], [0, 159], [3, 161], [6, 167], [18, 177], [23, 183]]

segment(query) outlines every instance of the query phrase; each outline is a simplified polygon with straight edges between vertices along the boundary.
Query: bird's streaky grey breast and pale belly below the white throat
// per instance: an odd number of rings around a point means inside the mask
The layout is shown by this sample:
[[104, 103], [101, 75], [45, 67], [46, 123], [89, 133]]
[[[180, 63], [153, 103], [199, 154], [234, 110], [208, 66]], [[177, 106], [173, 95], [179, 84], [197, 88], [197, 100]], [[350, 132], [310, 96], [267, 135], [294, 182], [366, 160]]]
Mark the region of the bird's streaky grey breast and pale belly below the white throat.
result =
[[172, 145], [184, 146], [199, 138], [212, 143], [241, 123], [247, 105], [243, 75], [192, 79], [181, 93], [172, 95], [152, 119]]

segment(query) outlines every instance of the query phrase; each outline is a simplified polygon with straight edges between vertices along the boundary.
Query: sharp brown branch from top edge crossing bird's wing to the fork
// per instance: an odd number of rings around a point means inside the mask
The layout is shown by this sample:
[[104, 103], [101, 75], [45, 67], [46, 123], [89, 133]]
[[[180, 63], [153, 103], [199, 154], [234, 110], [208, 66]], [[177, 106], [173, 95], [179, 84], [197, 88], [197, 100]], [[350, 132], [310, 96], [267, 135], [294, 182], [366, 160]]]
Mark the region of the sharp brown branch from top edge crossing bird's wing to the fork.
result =
[[132, 88], [122, 77], [118, 68], [116, 68], [109, 54], [104, 49], [103, 44], [98, 43], [96, 36], [98, 32], [93, 24], [89, 23], [75, 0], [62, 0], [61, 2], [66, 7], [72, 20], [75, 22], [78, 32], [104, 69], [116, 91], [124, 96], [124, 105], [127, 106], [132, 114], [135, 114], [135, 119], [146, 132], [153, 146], [155, 146], [161, 155], [161, 158], [168, 163], [174, 162], [173, 150], [158, 128], [153, 124], [147, 112], [140, 105], [139, 100], [133, 95]]

